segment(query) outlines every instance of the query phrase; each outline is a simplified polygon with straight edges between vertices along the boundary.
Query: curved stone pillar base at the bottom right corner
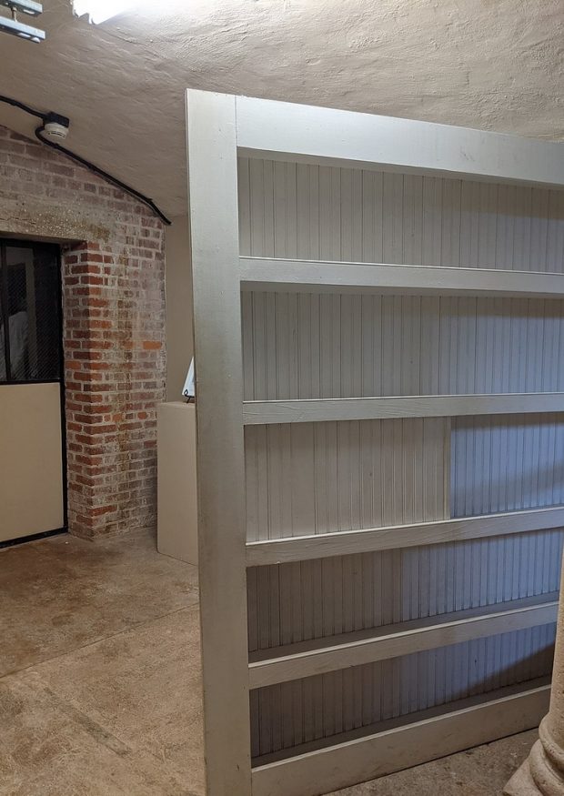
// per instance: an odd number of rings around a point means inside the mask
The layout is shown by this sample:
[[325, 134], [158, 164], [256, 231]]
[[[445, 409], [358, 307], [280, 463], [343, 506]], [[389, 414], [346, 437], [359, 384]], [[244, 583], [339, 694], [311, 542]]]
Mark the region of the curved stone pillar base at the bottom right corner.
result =
[[[564, 560], [562, 568], [564, 586]], [[506, 785], [508, 796], [564, 796], [564, 588], [560, 591], [554, 670], [548, 714], [539, 741]]]

